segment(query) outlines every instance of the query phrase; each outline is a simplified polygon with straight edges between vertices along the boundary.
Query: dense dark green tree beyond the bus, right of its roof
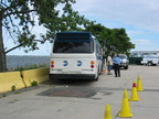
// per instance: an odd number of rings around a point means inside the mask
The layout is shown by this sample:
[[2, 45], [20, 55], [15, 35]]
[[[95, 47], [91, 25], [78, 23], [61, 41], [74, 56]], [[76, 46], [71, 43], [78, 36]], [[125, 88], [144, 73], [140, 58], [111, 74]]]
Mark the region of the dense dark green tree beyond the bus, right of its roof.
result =
[[103, 47], [107, 48], [107, 53], [129, 53], [135, 48], [135, 44], [130, 42], [125, 29], [108, 29], [102, 24], [88, 25], [86, 31], [93, 33]]

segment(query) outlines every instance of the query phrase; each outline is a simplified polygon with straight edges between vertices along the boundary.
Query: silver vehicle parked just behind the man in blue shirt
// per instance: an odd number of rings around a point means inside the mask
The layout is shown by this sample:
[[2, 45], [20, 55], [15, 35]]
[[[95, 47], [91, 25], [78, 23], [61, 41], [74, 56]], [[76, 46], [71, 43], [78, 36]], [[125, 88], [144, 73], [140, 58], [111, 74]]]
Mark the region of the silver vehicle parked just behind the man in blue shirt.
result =
[[119, 54], [119, 58], [121, 60], [120, 67], [128, 69], [129, 60], [126, 54]]

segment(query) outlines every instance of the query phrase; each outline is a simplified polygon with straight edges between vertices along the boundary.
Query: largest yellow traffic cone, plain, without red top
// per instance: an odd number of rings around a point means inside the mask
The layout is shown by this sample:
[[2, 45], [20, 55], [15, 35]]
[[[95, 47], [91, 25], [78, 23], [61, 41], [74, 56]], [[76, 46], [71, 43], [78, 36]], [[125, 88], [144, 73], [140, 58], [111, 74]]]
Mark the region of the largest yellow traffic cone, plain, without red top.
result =
[[127, 89], [124, 89], [121, 110], [118, 113], [118, 117], [132, 117], [132, 113], [130, 112]]

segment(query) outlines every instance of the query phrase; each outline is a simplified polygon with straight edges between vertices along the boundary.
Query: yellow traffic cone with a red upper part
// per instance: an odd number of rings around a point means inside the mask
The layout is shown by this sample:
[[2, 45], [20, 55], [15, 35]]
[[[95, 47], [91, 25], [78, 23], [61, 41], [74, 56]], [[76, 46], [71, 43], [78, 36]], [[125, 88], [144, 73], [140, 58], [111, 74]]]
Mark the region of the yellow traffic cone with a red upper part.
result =
[[138, 93], [137, 93], [137, 87], [136, 87], [136, 83], [135, 82], [132, 83], [131, 96], [130, 96], [129, 100], [135, 100], [135, 101], [139, 100]]

